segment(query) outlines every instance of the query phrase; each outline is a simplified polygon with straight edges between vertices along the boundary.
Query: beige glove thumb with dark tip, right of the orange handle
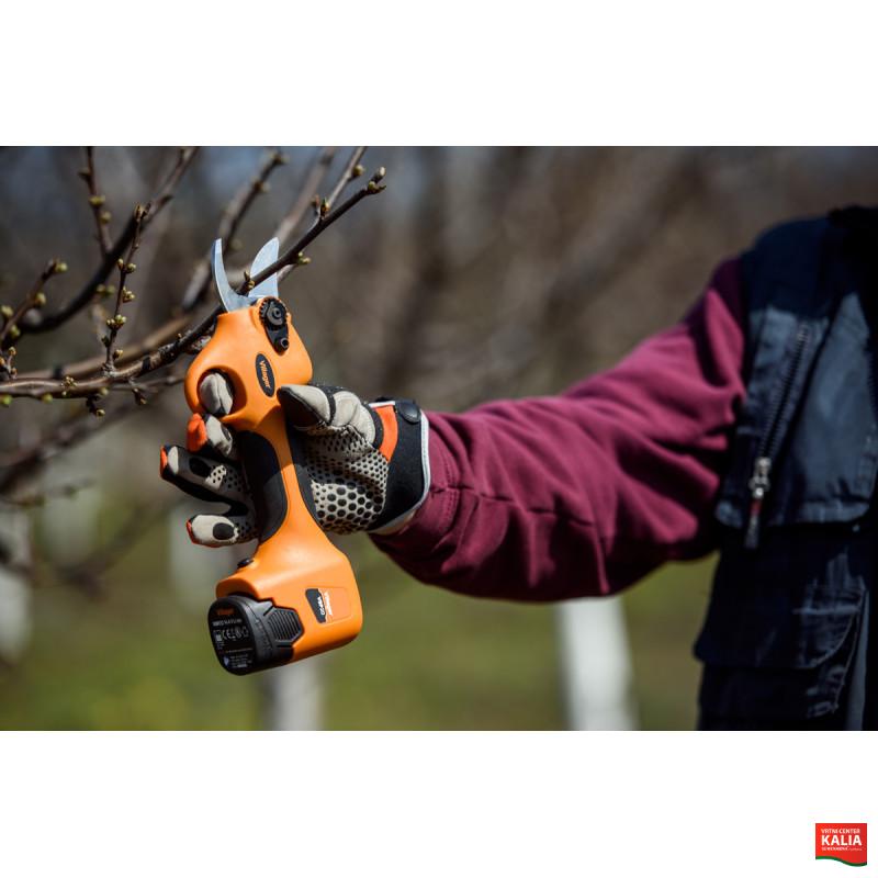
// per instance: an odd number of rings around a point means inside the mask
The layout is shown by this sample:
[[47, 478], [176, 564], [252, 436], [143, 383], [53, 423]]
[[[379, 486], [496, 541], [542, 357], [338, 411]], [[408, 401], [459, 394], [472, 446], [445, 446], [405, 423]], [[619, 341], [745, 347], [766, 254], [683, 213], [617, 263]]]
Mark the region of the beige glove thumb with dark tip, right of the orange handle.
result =
[[378, 436], [376, 416], [357, 394], [319, 384], [286, 384], [278, 398], [288, 423], [308, 436], [330, 436], [352, 428], [369, 444]]

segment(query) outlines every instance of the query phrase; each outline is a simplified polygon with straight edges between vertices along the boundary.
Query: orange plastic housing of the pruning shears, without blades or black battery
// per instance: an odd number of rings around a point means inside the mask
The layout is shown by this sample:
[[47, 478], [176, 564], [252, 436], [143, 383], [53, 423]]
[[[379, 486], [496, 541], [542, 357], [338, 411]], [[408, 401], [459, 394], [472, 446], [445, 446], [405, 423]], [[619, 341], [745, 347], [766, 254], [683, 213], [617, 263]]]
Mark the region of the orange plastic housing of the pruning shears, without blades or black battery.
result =
[[[279, 352], [259, 318], [260, 303], [221, 314], [213, 338], [195, 357], [185, 375], [184, 393], [193, 412], [204, 412], [198, 389], [209, 372], [222, 372], [234, 387], [234, 408], [221, 420], [236, 431], [251, 431], [271, 443], [280, 464], [286, 511], [278, 530], [260, 541], [251, 563], [216, 585], [216, 597], [246, 594], [294, 609], [304, 633], [293, 644], [291, 661], [349, 643], [362, 627], [362, 606], [348, 559], [320, 530], [302, 496], [293, 451], [286, 436], [277, 390], [307, 384], [311, 358], [286, 324], [290, 346]], [[305, 592], [318, 589], [320, 616]], [[313, 595], [313, 593], [312, 593]]]

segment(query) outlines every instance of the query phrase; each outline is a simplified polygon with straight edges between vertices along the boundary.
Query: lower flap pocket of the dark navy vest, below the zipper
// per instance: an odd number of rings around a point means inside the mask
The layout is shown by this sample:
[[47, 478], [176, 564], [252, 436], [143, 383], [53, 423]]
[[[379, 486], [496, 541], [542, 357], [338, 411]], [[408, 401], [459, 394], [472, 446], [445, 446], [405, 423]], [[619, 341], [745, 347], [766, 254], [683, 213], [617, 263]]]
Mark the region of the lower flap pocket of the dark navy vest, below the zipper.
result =
[[[736, 534], [731, 534], [734, 538]], [[811, 719], [837, 709], [876, 534], [855, 526], [768, 531], [723, 553], [695, 654], [701, 708], [730, 719]]]

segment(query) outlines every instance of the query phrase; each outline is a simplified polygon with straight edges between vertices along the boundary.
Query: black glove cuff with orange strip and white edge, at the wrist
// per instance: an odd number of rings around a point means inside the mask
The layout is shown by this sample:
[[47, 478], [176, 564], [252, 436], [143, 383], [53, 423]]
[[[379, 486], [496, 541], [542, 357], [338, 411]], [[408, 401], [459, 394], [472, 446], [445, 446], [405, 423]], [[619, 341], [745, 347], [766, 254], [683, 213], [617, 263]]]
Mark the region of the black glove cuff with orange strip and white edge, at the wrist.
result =
[[414, 399], [376, 399], [375, 409], [393, 407], [396, 444], [391, 453], [384, 508], [369, 533], [399, 530], [418, 510], [430, 489], [429, 429], [427, 416]]

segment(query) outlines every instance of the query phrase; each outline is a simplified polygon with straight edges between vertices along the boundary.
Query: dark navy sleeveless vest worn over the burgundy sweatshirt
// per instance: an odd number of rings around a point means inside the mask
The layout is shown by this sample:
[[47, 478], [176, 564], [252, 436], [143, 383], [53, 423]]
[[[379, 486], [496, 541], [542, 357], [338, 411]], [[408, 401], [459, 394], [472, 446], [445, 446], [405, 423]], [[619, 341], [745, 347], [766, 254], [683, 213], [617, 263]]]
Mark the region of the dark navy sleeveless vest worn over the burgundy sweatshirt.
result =
[[744, 257], [747, 394], [695, 648], [702, 728], [864, 721], [878, 538], [874, 226], [864, 211], [792, 223]]

